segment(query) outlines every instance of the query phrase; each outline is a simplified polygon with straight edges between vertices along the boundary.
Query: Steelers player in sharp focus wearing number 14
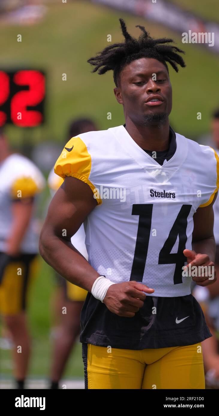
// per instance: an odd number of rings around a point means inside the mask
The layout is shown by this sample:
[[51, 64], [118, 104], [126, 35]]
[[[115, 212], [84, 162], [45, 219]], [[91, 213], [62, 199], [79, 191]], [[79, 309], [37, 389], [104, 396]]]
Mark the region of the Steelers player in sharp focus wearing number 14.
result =
[[[113, 70], [125, 124], [66, 144], [55, 164], [65, 181], [50, 204], [40, 253], [88, 291], [80, 335], [85, 388], [204, 389], [200, 343], [211, 334], [190, 285], [216, 280], [219, 158], [169, 126], [167, 63], [177, 72], [185, 67], [182, 50], [142, 26], [135, 39], [119, 20], [124, 42], [88, 62], [99, 74]], [[70, 244], [82, 222], [88, 262]], [[202, 276], [189, 276], [189, 266], [201, 265]]]

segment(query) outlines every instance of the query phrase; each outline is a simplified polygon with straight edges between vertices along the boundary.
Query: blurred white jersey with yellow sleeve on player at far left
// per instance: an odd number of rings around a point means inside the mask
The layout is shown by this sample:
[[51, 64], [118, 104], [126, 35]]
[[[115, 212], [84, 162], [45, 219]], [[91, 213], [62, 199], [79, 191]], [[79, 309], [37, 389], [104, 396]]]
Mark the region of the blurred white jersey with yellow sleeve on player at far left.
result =
[[[0, 163], [0, 251], [5, 252], [11, 235], [12, 201], [32, 198], [45, 186], [45, 179], [35, 164], [20, 154], [12, 154]], [[39, 230], [35, 211], [20, 246], [21, 253], [38, 252]]]

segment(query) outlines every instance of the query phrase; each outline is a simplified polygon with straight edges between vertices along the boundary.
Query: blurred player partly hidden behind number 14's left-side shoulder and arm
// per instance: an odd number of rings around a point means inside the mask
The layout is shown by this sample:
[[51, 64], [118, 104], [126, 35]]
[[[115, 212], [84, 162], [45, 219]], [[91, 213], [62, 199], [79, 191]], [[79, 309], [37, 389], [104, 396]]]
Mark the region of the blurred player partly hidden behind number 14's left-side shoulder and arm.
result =
[[[92, 120], [87, 118], [75, 119], [70, 124], [67, 139], [70, 140], [78, 134], [96, 130], [97, 126]], [[48, 176], [48, 185], [52, 196], [62, 182], [63, 179], [56, 175], [54, 168], [52, 168]], [[83, 224], [71, 238], [71, 242], [86, 260], [88, 260]], [[76, 285], [72, 285], [72, 283], [67, 282], [67, 280], [56, 272], [55, 280], [57, 288], [55, 290], [55, 295], [52, 295], [53, 322], [55, 322], [56, 325], [59, 322], [59, 327], [55, 329], [55, 333], [53, 332], [55, 342], [53, 343], [54, 349], [52, 354], [51, 389], [58, 389], [58, 384], [64, 372], [67, 359], [80, 334], [80, 313], [87, 295], [86, 290]], [[66, 312], [65, 310], [63, 311], [63, 307], [66, 307]]]

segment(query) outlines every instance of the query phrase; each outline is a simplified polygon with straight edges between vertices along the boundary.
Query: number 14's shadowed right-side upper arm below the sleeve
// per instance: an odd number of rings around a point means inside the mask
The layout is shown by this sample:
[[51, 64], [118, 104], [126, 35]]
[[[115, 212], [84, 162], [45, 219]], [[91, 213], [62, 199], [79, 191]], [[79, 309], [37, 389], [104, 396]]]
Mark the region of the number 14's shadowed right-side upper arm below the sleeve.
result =
[[192, 233], [192, 241], [204, 240], [205, 238], [212, 237], [214, 235], [214, 210], [213, 205], [217, 198], [217, 193], [211, 204], [207, 207], [198, 208], [193, 215], [194, 229]]

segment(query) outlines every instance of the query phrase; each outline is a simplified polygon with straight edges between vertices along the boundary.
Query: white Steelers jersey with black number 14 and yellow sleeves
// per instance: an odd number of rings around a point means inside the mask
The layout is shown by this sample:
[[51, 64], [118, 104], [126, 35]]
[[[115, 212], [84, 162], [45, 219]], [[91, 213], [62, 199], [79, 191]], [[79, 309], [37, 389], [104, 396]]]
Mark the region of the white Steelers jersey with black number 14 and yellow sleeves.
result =
[[87, 183], [97, 199], [85, 227], [92, 267], [115, 283], [145, 283], [155, 290], [148, 296], [191, 293], [183, 250], [192, 250], [194, 213], [219, 187], [214, 150], [180, 134], [176, 144], [160, 166], [117, 126], [70, 139], [55, 164], [55, 173]]

